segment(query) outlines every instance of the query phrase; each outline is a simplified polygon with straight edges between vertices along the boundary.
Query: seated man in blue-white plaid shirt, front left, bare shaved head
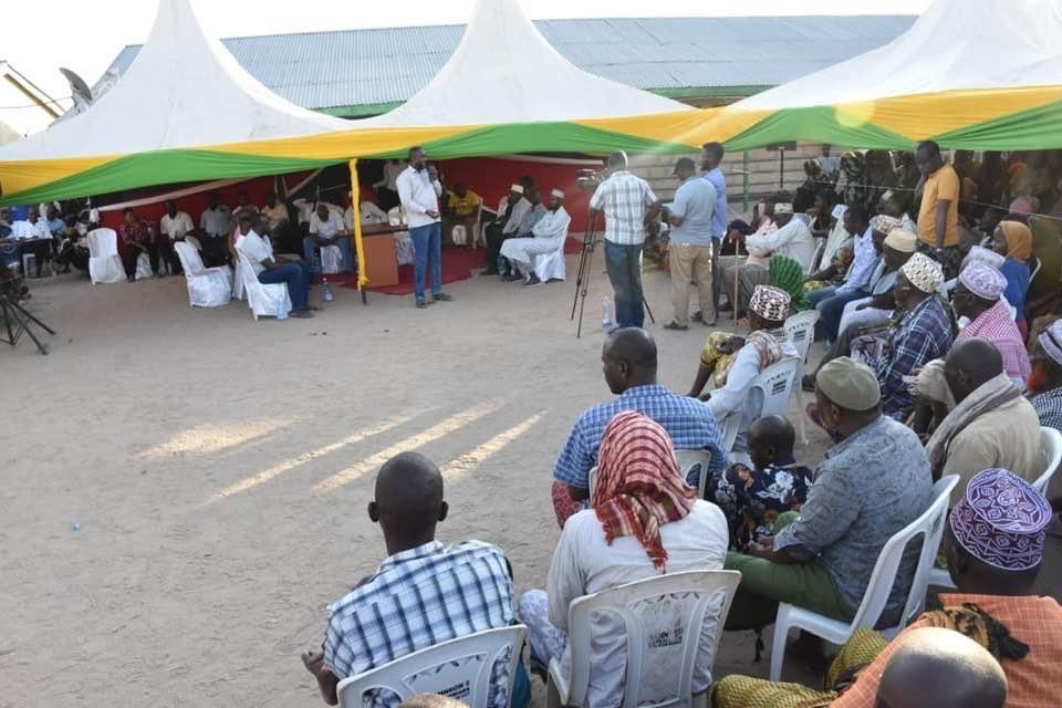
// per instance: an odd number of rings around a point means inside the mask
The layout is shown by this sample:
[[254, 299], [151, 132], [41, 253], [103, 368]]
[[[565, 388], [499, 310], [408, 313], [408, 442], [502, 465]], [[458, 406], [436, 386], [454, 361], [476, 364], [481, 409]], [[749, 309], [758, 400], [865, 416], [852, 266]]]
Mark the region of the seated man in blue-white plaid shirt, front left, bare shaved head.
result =
[[[376, 478], [368, 517], [384, 531], [388, 558], [330, 607], [321, 652], [302, 659], [321, 695], [336, 705], [340, 680], [448, 639], [513, 623], [512, 579], [494, 545], [465, 541], [444, 546], [435, 527], [446, 519], [442, 475], [426, 457], [403, 452]], [[504, 708], [508, 666], [496, 664], [490, 705]], [[374, 706], [398, 696], [379, 691]]]

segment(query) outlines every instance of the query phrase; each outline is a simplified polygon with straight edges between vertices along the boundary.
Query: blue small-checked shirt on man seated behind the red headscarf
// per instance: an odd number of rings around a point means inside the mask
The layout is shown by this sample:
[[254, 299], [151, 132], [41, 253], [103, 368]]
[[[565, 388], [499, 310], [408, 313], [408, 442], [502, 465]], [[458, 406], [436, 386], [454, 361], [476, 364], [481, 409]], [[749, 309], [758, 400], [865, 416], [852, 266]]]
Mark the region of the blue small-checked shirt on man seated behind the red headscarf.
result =
[[[722, 451], [722, 436], [716, 417], [708, 404], [678, 396], [664, 386], [636, 386], [628, 388], [614, 400], [589, 408], [575, 421], [553, 469], [553, 478], [572, 487], [587, 489], [590, 470], [597, 465], [597, 448], [612, 418], [623, 410], [637, 410], [655, 420], [667, 430], [676, 450], [708, 450], [711, 460], [708, 472], [721, 472], [727, 466]], [[693, 479], [686, 481], [697, 487], [699, 476], [695, 466]]]

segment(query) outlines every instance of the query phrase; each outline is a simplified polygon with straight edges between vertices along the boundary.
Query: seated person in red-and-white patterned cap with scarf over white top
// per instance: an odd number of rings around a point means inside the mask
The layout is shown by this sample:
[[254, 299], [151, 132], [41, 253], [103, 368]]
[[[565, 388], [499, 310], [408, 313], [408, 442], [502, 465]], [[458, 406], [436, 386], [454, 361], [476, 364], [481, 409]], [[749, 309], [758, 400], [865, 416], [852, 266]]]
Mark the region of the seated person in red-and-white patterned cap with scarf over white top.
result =
[[[760, 396], [750, 395], [752, 379], [772, 364], [796, 356], [796, 347], [789, 341], [784, 329], [789, 302], [789, 295], [781, 290], [758, 285], [749, 303], [749, 329], [752, 333], [748, 339], [727, 335], [720, 339], [720, 333], [712, 333], [701, 351], [697, 378], [689, 395], [699, 397], [709, 376], [716, 374], [720, 386], [711, 392], [708, 409], [720, 424], [728, 416], [740, 417], [733, 452], [746, 451], [749, 426], [760, 417], [763, 406]], [[719, 360], [728, 354], [733, 356], [721, 365]]]

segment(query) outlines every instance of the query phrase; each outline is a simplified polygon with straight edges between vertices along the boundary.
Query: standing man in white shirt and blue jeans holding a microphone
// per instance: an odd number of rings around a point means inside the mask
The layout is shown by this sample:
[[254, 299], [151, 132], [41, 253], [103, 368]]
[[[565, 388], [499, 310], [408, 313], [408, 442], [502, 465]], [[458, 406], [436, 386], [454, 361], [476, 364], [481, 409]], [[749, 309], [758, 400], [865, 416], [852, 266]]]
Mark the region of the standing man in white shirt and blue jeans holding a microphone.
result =
[[418, 309], [428, 306], [424, 299], [425, 275], [431, 268], [433, 302], [452, 300], [442, 292], [442, 220], [439, 197], [442, 185], [435, 167], [419, 145], [409, 148], [409, 166], [398, 175], [398, 198], [406, 211], [406, 223], [413, 238], [416, 262], [413, 269], [413, 294]]

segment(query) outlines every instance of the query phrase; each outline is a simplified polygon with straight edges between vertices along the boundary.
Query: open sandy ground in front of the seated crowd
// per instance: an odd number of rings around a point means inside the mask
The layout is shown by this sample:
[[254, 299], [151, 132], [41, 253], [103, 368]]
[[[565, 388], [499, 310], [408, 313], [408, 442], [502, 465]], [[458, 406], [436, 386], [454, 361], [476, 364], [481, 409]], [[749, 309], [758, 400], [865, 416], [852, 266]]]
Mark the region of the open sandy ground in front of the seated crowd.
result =
[[[299, 653], [384, 558], [365, 506], [402, 450], [445, 471], [444, 541], [497, 543], [519, 591], [544, 584], [552, 464], [610, 395], [600, 260], [581, 340], [572, 281], [473, 279], [426, 311], [341, 288], [284, 322], [190, 309], [178, 278], [33, 285], [59, 334], [46, 357], [0, 350], [0, 707], [319, 705]], [[647, 292], [662, 382], [684, 392], [706, 330], [662, 330], [669, 285]], [[723, 638], [718, 675], [767, 668], [750, 635]]]

